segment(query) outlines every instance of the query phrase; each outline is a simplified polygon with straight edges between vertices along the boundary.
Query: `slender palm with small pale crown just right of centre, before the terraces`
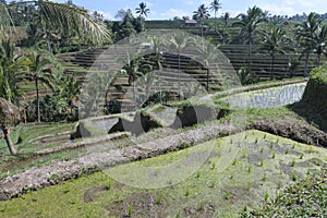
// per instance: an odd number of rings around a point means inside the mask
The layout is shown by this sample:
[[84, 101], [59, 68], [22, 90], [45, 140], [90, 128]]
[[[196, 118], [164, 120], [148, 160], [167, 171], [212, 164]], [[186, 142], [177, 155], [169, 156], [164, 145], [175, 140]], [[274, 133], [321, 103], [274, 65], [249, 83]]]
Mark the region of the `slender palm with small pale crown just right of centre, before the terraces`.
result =
[[181, 52], [189, 45], [189, 37], [184, 33], [175, 33], [168, 39], [168, 45], [178, 53], [178, 89], [179, 100], [181, 100]]

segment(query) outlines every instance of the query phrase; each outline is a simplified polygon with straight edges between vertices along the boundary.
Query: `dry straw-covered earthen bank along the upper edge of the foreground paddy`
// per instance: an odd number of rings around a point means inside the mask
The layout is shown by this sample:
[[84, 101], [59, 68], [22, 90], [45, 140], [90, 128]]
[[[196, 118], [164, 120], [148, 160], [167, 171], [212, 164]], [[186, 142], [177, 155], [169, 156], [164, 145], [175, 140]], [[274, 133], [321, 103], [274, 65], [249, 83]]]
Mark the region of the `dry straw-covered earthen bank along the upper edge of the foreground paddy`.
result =
[[[52, 161], [50, 165], [32, 167], [23, 172], [8, 177], [0, 182], [0, 201], [7, 201], [27, 191], [78, 178], [102, 167], [113, 167], [132, 160], [138, 160], [180, 149], [182, 142], [196, 145], [211, 138], [227, 136], [241, 130], [232, 125], [207, 124], [196, 130], [145, 142], [121, 149], [106, 149], [107, 144], [93, 146], [89, 154], [68, 161]], [[93, 152], [94, 150], [94, 152]]]

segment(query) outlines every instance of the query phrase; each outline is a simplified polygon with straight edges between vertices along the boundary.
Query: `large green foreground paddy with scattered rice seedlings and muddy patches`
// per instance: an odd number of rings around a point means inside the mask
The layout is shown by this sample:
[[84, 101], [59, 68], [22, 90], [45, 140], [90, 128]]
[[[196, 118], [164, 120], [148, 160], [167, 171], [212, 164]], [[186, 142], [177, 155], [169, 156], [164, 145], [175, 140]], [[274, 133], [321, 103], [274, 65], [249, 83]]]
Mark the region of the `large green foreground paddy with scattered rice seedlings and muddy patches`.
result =
[[[197, 162], [194, 157], [204, 153], [208, 159]], [[253, 208], [272, 198], [278, 189], [319, 171], [326, 158], [324, 148], [247, 131], [1, 202], [0, 216], [235, 217], [245, 205]], [[177, 171], [160, 180], [165, 167], [173, 164]], [[141, 167], [148, 170], [140, 171]], [[192, 173], [177, 182], [180, 174], [173, 172], [186, 169]], [[164, 185], [152, 190], [125, 185], [125, 179], [142, 184], [146, 177]]]

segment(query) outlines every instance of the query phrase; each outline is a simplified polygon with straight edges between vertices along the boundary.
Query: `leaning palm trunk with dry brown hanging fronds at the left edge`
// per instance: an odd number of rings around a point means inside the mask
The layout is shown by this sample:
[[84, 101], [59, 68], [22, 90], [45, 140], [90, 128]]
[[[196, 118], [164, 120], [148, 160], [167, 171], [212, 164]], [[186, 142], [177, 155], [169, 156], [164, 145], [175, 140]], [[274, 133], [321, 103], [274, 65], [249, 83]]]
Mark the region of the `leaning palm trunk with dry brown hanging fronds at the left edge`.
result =
[[10, 137], [10, 128], [15, 125], [19, 120], [19, 108], [9, 100], [0, 97], [0, 128], [11, 155], [15, 155], [16, 149]]

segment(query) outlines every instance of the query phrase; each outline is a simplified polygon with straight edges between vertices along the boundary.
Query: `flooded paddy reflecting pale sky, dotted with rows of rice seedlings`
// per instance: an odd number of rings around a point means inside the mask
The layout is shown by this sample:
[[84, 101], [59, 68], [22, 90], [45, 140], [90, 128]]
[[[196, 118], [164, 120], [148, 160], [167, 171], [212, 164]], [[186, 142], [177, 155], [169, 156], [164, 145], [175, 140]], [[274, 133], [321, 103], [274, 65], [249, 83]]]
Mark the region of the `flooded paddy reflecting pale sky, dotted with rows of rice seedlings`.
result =
[[232, 107], [275, 108], [300, 101], [306, 83], [251, 90], [223, 98]]

